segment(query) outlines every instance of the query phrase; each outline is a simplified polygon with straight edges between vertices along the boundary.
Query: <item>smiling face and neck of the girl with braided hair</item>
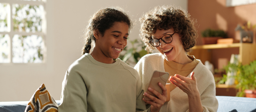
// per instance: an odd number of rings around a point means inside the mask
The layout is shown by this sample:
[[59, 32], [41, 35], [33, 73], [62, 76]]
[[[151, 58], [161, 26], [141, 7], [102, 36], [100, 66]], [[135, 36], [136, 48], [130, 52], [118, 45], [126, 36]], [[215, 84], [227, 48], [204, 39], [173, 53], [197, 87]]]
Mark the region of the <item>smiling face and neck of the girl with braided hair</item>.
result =
[[[124, 22], [114, 22], [114, 25], [104, 33], [95, 36], [96, 42], [93, 51], [97, 52], [101, 60], [117, 59], [120, 52], [127, 45], [129, 26]], [[100, 61], [101, 62], [101, 61]]]

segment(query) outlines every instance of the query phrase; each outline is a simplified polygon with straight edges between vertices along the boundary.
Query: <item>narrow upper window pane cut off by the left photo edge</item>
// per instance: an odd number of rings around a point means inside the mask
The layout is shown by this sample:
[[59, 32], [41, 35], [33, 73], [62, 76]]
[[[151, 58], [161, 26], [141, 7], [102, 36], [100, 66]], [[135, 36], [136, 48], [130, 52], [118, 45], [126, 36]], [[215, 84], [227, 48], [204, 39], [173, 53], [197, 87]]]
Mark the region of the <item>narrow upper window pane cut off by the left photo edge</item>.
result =
[[0, 32], [8, 31], [7, 13], [10, 11], [9, 4], [0, 3]]

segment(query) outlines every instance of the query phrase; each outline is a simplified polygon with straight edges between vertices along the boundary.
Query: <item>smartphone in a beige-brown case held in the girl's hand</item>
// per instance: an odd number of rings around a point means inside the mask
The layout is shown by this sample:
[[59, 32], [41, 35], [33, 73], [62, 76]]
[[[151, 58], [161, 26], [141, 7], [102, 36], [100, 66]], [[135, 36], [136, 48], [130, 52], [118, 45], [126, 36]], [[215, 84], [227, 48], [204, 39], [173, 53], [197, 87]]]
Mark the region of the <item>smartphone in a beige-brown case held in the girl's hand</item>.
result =
[[[158, 83], [161, 83], [165, 86], [167, 80], [168, 80], [168, 77], [169, 77], [169, 73], [168, 72], [163, 72], [163, 71], [157, 71], [155, 70], [153, 72], [153, 75], [151, 77], [151, 80], [150, 80], [150, 83], [148, 85], [148, 87], [156, 90], [157, 92], [159, 92], [160, 94], [163, 93], [163, 90], [162, 88], [158, 85]], [[150, 92], [147, 88], [147, 91], [146, 91], [148, 94], [158, 98], [153, 92]], [[152, 101], [150, 98], [148, 98], [146, 95], [144, 95], [144, 99], [147, 100], [147, 101]]]

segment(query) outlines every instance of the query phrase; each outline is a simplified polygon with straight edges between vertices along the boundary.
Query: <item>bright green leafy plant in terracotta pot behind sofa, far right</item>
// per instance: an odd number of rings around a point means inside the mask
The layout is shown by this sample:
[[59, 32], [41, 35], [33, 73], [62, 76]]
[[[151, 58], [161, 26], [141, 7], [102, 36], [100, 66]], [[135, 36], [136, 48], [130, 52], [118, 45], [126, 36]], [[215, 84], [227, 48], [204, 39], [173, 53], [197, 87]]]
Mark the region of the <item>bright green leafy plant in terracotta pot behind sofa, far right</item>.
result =
[[[236, 72], [236, 76], [232, 76], [235, 78], [237, 82], [236, 88], [239, 90], [236, 96], [256, 98], [256, 60], [247, 65], [229, 63], [225, 67], [225, 70], [226, 73], [231, 71]], [[223, 75], [219, 84], [223, 84], [227, 78], [227, 75]]]

